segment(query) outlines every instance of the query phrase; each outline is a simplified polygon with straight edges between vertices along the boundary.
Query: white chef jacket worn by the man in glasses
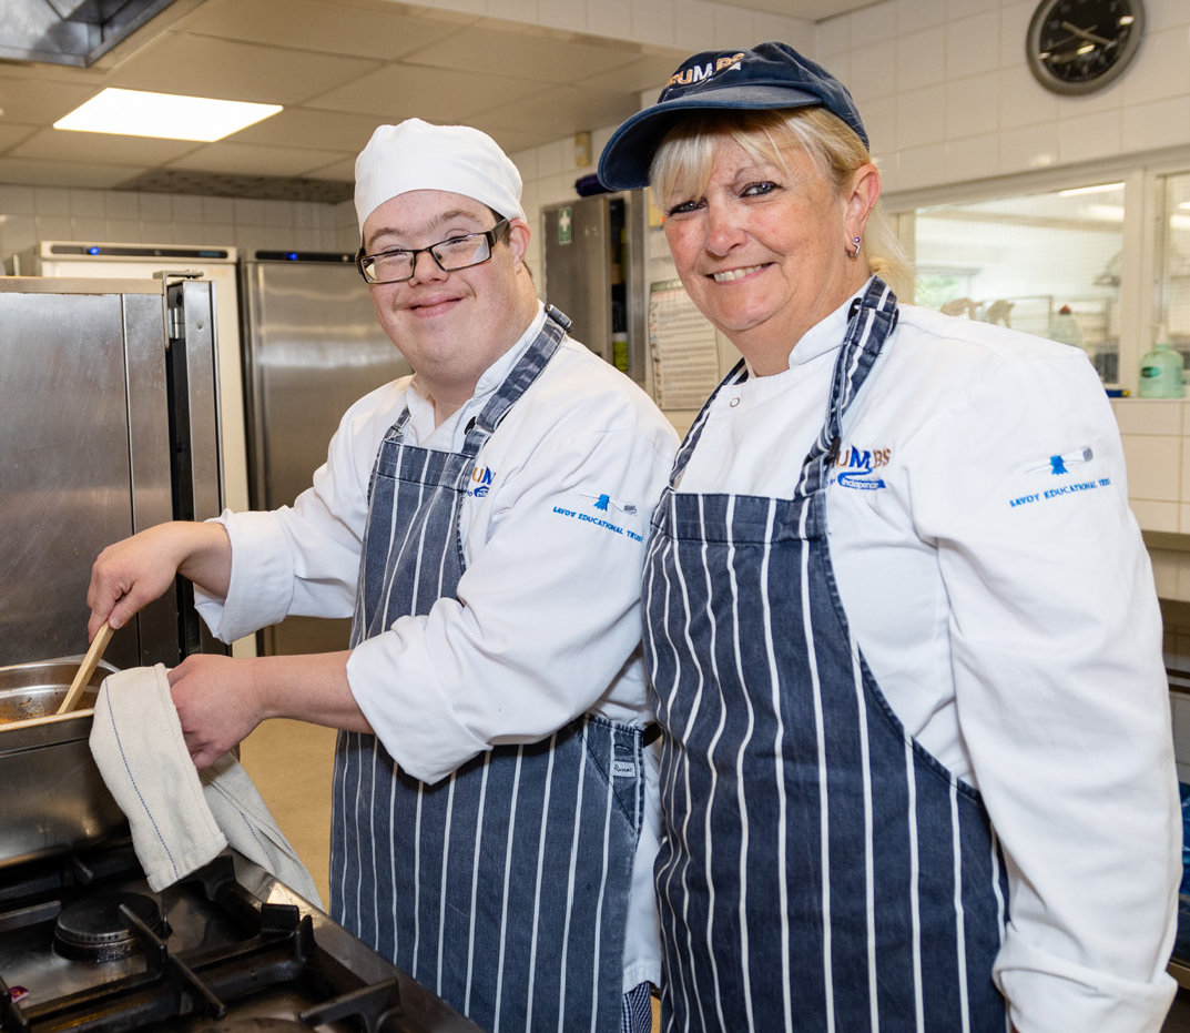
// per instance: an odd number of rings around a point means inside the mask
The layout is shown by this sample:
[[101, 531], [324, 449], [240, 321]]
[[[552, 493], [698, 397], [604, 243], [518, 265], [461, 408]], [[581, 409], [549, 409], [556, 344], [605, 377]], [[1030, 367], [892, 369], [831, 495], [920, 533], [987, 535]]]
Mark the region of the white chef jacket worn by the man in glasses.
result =
[[[468, 426], [538, 336], [545, 311], [438, 427], [416, 375], [344, 415], [327, 462], [292, 507], [224, 513], [226, 600], [199, 611], [232, 641], [289, 614], [350, 616], [368, 484], [406, 405], [405, 440], [458, 451]], [[677, 436], [649, 396], [564, 338], [480, 452], [463, 500], [457, 599], [357, 645], [351, 691], [389, 753], [434, 782], [493, 745], [537, 741], [591, 712], [651, 720], [640, 658], [640, 575], [653, 503]], [[660, 978], [652, 891], [657, 768], [646, 749], [645, 827], [633, 870], [625, 989]]]

